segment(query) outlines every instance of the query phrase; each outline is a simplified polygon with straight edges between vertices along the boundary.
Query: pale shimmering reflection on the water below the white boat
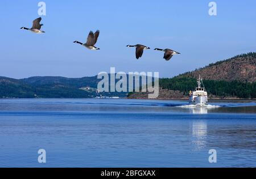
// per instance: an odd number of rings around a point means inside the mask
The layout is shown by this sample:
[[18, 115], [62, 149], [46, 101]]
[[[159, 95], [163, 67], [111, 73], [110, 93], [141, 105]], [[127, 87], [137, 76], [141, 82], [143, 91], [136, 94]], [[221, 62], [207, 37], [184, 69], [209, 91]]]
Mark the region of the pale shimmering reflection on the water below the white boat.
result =
[[193, 121], [192, 122], [192, 144], [195, 150], [201, 150], [207, 143], [207, 122]]

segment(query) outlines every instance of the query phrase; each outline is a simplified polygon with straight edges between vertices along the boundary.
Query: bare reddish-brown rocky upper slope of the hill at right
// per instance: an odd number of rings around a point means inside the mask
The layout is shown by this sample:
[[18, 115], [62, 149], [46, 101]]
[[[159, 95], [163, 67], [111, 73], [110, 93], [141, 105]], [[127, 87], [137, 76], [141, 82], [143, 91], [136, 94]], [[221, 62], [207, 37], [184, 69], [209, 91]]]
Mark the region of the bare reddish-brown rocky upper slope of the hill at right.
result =
[[177, 77], [198, 78], [199, 74], [207, 80], [256, 82], [256, 53], [241, 54]]

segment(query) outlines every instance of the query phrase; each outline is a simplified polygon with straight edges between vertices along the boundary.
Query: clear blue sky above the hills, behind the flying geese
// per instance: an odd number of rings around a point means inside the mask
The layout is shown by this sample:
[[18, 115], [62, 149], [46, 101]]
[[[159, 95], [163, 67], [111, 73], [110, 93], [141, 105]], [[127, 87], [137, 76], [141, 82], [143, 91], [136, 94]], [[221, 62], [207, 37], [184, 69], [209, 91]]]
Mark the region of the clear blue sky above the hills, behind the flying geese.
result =
[[[2, 0], [0, 6], [0, 76], [82, 77], [101, 71], [159, 71], [171, 77], [237, 54], [255, 52], [256, 1], [215, 1], [217, 16], [209, 16], [210, 1], [44, 1], [43, 35], [19, 29], [39, 17], [38, 2]], [[100, 29], [96, 46], [87, 50], [90, 30]], [[139, 60], [135, 49], [151, 50]], [[171, 61], [154, 48], [180, 52]]]

